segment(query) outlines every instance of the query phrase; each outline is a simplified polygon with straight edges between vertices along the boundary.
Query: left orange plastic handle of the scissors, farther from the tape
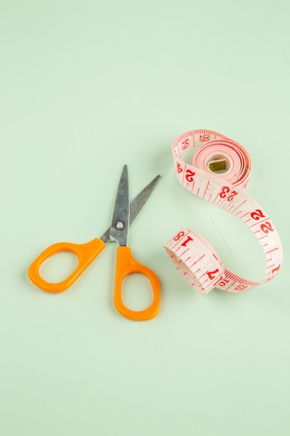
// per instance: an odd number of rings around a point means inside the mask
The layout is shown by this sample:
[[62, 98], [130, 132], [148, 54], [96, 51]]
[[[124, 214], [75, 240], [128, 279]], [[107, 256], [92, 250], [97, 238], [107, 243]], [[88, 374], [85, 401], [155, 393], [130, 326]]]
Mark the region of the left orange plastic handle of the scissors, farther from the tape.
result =
[[[106, 247], [105, 242], [95, 238], [94, 240], [87, 242], [86, 244], [72, 244], [71, 242], [58, 242], [50, 247], [47, 247], [42, 253], [31, 263], [29, 267], [29, 279], [42, 290], [46, 290], [50, 293], [58, 293], [62, 290], [66, 290], [72, 286], [72, 283], [79, 278], [84, 270], [92, 263], [97, 255]], [[54, 254], [61, 253], [61, 251], [70, 251], [79, 258], [79, 265], [74, 272], [70, 274], [67, 279], [60, 281], [59, 283], [49, 283], [40, 276], [40, 265], [45, 260], [54, 256]]]

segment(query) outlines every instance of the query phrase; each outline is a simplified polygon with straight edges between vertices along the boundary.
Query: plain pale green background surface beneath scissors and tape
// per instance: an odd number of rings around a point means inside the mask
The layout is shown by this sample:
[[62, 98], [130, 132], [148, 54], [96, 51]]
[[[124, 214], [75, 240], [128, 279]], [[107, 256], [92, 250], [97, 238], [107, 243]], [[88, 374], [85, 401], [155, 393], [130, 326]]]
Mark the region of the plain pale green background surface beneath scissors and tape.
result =
[[[289, 0], [0, 5], [1, 435], [288, 436]], [[282, 271], [245, 295], [202, 297], [163, 249], [193, 228], [263, 275], [245, 226], [175, 178], [171, 143], [195, 128], [248, 149], [248, 193], [282, 239]], [[114, 309], [115, 244], [65, 293], [27, 278], [49, 244], [102, 235], [123, 164], [131, 196], [162, 176], [129, 235], [161, 281], [148, 322]], [[43, 274], [73, 267], [58, 260]], [[147, 282], [127, 286], [146, 304]]]

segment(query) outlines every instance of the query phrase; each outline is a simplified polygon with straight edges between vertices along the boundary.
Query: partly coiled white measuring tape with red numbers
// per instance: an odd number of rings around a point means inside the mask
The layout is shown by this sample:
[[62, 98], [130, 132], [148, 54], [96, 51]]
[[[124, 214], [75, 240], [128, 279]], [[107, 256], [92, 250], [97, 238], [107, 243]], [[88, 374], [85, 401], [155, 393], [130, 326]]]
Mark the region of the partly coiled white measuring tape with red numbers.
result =
[[[182, 156], [197, 148], [192, 165]], [[223, 261], [198, 232], [181, 228], [165, 245], [184, 279], [205, 295], [213, 288], [241, 293], [275, 277], [282, 265], [282, 244], [272, 220], [248, 195], [252, 162], [239, 143], [212, 130], [192, 130], [172, 144], [177, 179], [188, 191], [239, 218], [255, 235], [266, 257], [264, 278], [249, 281], [225, 269]]]

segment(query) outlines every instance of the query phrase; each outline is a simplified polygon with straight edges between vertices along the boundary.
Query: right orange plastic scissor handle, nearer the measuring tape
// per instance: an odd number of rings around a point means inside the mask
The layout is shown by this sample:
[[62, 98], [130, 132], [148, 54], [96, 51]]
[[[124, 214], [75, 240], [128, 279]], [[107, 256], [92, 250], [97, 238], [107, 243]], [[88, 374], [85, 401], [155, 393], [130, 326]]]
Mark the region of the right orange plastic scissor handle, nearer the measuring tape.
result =
[[[129, 274], [133, 274], [134, 272], [145, 275], [150, 280], [152, 286], [153, 302], [149, 307], [147, 307], [147, 309], [143, 311], [132, 311], [131, 309], [128, 309], [122, 302], [122, 281], [125, 277], [127, 277]], [[130, 320], [150, 320], [159, 312], [159, 279], [156, 274], [150, 270], [150, 268], [145, 267], [145, 265], [138, 263], [134, 259], [131, 254], [130, 247], [117, 247], [114, 303], [118, 312]]]

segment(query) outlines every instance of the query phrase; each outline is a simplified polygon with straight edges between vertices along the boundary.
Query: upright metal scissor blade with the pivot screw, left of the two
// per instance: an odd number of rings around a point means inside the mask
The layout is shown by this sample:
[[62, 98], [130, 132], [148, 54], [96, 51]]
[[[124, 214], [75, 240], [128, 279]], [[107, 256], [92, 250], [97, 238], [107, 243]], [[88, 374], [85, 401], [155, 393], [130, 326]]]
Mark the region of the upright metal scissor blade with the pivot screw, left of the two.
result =
[[115, 198], [110, 237], [118, 241], [120, 246], [126, 246], [129, 231], [129, 180], [127, 165], [124, 165]]

